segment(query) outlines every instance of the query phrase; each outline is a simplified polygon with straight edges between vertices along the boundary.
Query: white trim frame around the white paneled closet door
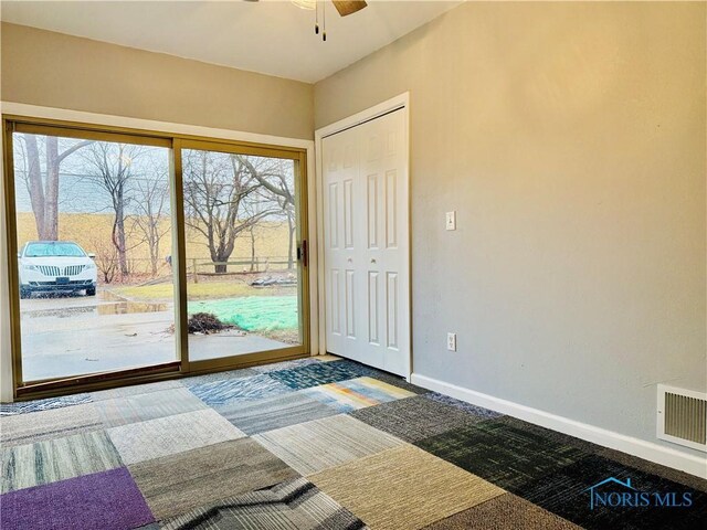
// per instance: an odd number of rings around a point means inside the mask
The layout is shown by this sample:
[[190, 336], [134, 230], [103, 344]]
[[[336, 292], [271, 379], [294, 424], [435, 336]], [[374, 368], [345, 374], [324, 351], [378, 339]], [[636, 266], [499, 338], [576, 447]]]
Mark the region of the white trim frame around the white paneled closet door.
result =
[[408, 319], [409, 319], [409, 343], [410, 343], [410, 352], [408, 356], [408, 365], [405, 369], [407, 377], [405, 379], [410, 381], [410, 377], [412, 374], [412, 232], [411, 227], [411, 218], [410, 218], [410, 202], [412, 198], [412, 192], [410, 188], [410, 92], [404, 92], [398, 96], [391, 97], [378, 105], [374, 105], [370, 108], [361, 110], [360, 113], [354, 114], [347, 118], [335, 121], [330, 125], [321, 127], [315, 130], [314, 134], [314, 142], [315, 142], [315, 156], [316, 156], [316, 171], [315, 171], [315, 189], [316, 189], [316, 209], [317, 209], [317, 241], [320, 242], [317, 246], [317, 262], [319, 266], [317, 267], [317, 283], [319, 284], [319, 315], [318, 315], [318, 324], [319, 324], [319, 354], [327, 353], [327, 328], [326, 328], [326, 266], [324, 259], [324, 166], [323, 166], [323, 140], [324, 138], [336, 135], [337, 132], [341, 132], [346, 129], [350, 129], [358, 125], [365, 124], [366, 121], [370, 121], [372, 119], [384, 116], [386, 114], [392, 113], [394, 110], [400, 110], [404, 116], [404, 131], [403, 131], [403, 141], [402, 147], [405, 150], [405, 161], [407, 161], [407, 171], [405, 179], [408, 184], [408, 204], [405, 205], [408, 209], [408, 259], [405, 265], [408, 267], [408, 293], [409, 293], [409, 307]]

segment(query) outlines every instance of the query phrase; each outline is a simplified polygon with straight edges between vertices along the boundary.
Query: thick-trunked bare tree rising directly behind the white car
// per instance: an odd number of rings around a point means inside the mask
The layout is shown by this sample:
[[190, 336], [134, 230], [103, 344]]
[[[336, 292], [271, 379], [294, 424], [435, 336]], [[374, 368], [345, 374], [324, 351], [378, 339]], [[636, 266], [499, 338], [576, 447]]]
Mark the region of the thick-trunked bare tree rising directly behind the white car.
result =
[[[62, 162], [91, 140], [74, 141], [60, 151], [59, 138], [23, 134], [24, 181], [30, 194], [36, 234], [40, 240], [59, 240], [59, 172]], [[40, 147], [41, 146], [41, 147]], [[44, 163], [42, 163], [42, 158]]]

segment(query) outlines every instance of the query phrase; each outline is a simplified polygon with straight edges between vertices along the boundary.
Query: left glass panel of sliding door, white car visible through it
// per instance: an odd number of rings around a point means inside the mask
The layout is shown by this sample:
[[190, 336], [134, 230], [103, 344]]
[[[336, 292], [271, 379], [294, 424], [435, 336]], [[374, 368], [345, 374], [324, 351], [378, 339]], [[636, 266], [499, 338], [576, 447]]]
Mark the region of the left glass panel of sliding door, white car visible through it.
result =
[[24, 383], [177, 360], [171, 149], [67, 135], [12, 135]]

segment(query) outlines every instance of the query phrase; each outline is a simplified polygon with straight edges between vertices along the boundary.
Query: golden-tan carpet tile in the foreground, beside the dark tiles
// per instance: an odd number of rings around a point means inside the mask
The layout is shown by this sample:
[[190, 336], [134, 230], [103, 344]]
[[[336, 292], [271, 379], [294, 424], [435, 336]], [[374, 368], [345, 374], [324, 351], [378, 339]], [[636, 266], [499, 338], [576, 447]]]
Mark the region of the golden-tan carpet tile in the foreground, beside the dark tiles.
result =
[[405, 444], [309, 477], [374, 529], [418, 529], [504, 494]]

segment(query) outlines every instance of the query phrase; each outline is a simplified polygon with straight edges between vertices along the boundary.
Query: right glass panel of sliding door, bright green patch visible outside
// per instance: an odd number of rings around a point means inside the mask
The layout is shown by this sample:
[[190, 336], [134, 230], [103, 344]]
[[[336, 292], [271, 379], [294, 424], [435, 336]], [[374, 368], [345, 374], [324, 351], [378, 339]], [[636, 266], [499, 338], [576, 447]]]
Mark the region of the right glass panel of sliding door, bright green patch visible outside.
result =
[[304, 352], [299, 160], [181, 157], [190, 362]]

